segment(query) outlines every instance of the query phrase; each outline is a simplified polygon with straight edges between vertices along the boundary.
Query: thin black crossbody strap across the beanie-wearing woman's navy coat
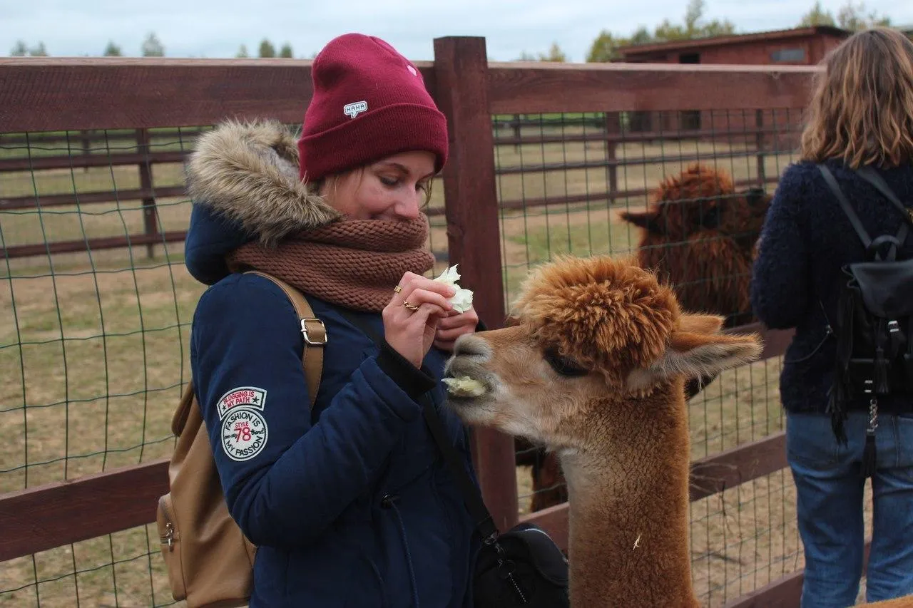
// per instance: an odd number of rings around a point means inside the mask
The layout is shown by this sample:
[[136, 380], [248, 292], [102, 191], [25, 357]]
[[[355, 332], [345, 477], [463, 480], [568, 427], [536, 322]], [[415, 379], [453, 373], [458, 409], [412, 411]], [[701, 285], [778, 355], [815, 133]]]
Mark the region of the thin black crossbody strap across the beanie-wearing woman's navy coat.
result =
[[[364, 335], [373, 340], [375, 344], [383, 343], [383, 338], [378, 335], [373, 327], [364, 322], [362, 318], [352, 314], [352, 311], [348, 309], [341, 308], [338, 310], [346, 320], [359, 330], [362, 330]], [[498, 538], [498, 528], [495, 526], [495, 520], [491, 517], [488, 508], [486, 508], [481, 492], [472, 482], [472, 478], [469, 477], [466, 467], [463, 466], [463, 458], [456, 452], [456, 447], [447, 440], [444, 423], [437, 414], [435, 404], [427, 395], [422, 396], [419, 401], [422, 404], [422, 414], [425, 417], [425, 425], [428, 426], [428, 430], [435, 438], [437, 448], [440, 450], [441, 456], [444, 457], [444, 461], [450, 469], [450, 473], [456, 480], [456, 485], [463, 495], [463, 501], [466, 503], [469, 516], [476, 521], [476, 528], [482, 535], [483, 540], [486, 540], [486, 542], [496, 540]]]

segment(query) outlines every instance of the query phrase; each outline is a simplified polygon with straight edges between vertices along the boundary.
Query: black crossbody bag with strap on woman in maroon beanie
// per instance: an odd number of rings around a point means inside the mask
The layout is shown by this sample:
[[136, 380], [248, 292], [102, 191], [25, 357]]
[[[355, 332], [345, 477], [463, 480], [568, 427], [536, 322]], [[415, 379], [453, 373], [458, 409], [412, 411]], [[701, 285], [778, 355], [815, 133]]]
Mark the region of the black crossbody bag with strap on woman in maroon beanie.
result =
[[[373, 328], [341, 309], [342, 315], [376, 343]], [[565, 608], [568, 561], [554, 540], [538, 526], [525, 523], [500, 534], [478, 487], [463, 466], [463, 458], [448, 440], [444, 424], [430, 398], [422, 399], [422, 414], [437, 448], [463, 494], [469, 515], [482, 537], [473, 573], [475, 608]]]

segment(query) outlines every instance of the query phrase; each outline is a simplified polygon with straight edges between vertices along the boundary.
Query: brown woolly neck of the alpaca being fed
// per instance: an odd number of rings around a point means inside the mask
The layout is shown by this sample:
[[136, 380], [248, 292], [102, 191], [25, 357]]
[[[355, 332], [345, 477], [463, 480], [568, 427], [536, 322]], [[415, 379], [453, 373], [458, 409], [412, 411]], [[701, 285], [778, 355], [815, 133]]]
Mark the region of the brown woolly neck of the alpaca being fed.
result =
[[[570, 502], [571, 604], [697, 606], [688, 550], [689, 441], [675, 420], [619, 421], [611, 443], [561, 456]], [[640, 424], [640, 425], [638, 425]], [[645, 428], [641, 425], [653, 425]]]

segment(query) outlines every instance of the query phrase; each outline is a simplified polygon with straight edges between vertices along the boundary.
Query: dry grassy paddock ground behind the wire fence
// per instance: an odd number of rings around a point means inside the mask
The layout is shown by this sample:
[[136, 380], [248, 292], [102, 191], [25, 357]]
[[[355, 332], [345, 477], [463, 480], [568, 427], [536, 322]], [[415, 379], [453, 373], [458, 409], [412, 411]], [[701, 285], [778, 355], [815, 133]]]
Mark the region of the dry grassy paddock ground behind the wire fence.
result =
[[[189, 144], [156, 145], [185, 149]], [[715, 155], [724, 152], [733, 157], [715, 162]], [[498, 197], [526, 201], [603, 193], [603, 168], [532, 168], [599, 161], [605, 155], [602, 142], [497, 146], [498, 166], [526, 170], [500, 175]], [[683, 155], [699, 155], [736, 179], [755, 177], [756, 156], [740, 144], [626, 143], [618, 146], [616, 156], [634, 164], [618, 169], [619, 188], [655, 186], [683, 168], [677, 162]], [[655, 157], [664, 161], [638, 161]], [[787, 154], [768, 156], [767, 173], [781, 173], [789, 160]], [[179, 164], [156, 164], [152, 173], [157, 187], [183, 183]], [[138, 187], [135, 166], [0, 173], [0, 198]], [[516, 295], [530, 267], [556, 254], [632, 251], [637, 236], [616, 220], [617, 214], [645, 203], [645, 197], [609, 204], [593, 196], [586, 203], [504, 210], [501, 263], [507, 298]], [[431, 205], [441, 204], [443, 187], [436, 183]], [[184, 198], [159, 200], [159, 225], [183, 230], [189, 211]], [[142, 233], [142, 226], [138, 201], [7, 210], [0, 211], [0, 243], [123, 236]], [[434, 219], [428, 246], [446, 252], [443, 217]], [[138, 246], [91, 256], [5, 260], [0, 277], [0, 306], [8, 311], [0, 318], [0, 427], [7, 437], [0, 445], [0, 493], [168, 456], [173, 407], [189, 377], [190, 321], [203, 291], [184, 268], [182, 244], [155, 246], [152, 257]], [[778, 361], [758, 362], [721, 374], [692, 400], [692, 458], [780, 430], [778, 375]], [[529, 508], [529, 479], [528, 471], [518, 470], [520, 512]], [[692, 504], [694, 578], [709, 605], [721, 605], [801, 567], [792, 491], [789, 476], [778, 472]], [[170, 605], [157, 551], [157, 535], [149, 527], [5, 562], [0, 606]]]

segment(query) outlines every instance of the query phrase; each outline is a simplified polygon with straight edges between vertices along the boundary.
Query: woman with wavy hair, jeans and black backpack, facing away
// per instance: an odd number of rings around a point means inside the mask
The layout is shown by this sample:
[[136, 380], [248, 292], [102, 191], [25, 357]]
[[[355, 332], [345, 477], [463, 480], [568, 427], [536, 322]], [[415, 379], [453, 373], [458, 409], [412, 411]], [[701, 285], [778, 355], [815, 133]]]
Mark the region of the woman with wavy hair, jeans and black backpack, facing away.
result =
[[795, 329], [780, 378], [802, 606], [913, 592], [913, 43], [876, 27], [823, 61], [761, 231], [755, 314]]

